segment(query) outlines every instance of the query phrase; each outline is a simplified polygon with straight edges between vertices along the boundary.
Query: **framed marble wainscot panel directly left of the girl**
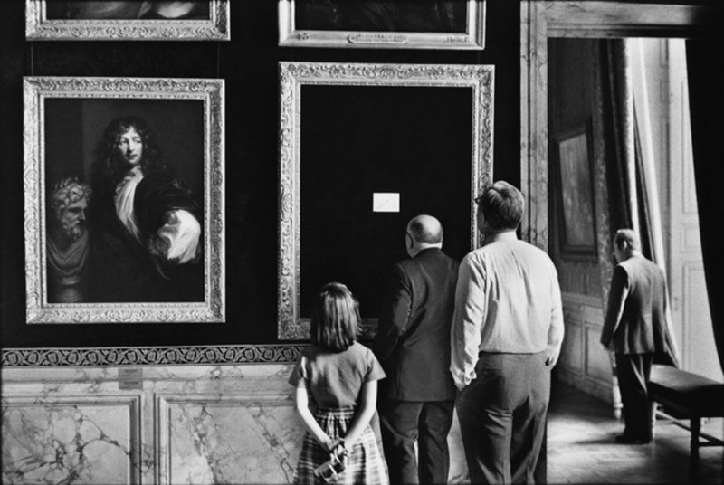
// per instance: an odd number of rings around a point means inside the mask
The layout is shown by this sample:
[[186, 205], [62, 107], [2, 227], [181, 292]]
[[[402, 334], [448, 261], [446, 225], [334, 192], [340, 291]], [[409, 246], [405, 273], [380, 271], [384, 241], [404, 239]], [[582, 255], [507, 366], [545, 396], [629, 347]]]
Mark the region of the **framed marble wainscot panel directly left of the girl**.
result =
[[286, 400], [157, 395], [157, 410], [157, 483], [291, 483], [303, 429]]

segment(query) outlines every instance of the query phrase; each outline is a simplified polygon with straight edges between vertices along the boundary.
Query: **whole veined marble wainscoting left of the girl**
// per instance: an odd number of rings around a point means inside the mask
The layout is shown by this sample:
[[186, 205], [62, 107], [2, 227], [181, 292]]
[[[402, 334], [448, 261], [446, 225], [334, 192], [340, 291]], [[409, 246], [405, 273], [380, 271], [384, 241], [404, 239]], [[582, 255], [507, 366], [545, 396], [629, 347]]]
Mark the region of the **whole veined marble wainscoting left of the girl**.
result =
[[3, 483], [288, 483], [292, 365], [3, 367]]

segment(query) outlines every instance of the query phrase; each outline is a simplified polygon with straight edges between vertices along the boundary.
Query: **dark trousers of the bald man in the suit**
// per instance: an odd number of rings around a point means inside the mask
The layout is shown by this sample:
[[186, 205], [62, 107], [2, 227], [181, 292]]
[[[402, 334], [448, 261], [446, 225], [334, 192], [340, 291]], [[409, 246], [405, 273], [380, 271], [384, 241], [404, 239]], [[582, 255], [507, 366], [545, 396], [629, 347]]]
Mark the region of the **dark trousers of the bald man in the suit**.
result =
[[450, 471], [447, 434], [452, 426], [454, 408], [453, 400], [380, 399], [380, 431], [390, 483], [447, 483]]

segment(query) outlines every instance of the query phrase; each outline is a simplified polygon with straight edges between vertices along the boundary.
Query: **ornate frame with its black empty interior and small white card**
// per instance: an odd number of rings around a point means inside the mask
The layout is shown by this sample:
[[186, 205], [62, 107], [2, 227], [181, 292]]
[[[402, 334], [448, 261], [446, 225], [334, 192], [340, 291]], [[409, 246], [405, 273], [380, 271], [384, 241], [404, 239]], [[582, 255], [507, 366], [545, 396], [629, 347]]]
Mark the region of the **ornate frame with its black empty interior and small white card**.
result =
[[490, 65], [280, 62], [280, 340], [309, 338], [329, 280], [356, 295], [370, 337], [411, 215], [441, 220], [446, 252], [478, 247], [493, 77]]

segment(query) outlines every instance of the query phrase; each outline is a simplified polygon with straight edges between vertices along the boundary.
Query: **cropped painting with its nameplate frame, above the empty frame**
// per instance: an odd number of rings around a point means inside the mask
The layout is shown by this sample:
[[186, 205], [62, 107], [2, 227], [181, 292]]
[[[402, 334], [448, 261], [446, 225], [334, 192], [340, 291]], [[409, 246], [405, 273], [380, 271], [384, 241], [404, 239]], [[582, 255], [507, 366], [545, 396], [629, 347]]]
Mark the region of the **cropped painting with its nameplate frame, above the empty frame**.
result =
[[278, 0], [279, 45], [374, 49], [485, 47], [485, 0]]

